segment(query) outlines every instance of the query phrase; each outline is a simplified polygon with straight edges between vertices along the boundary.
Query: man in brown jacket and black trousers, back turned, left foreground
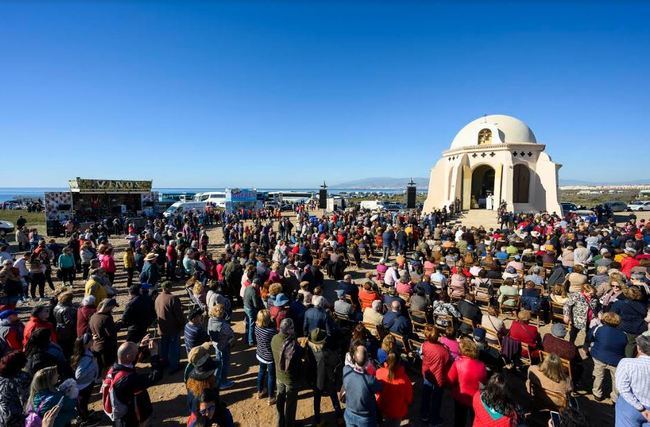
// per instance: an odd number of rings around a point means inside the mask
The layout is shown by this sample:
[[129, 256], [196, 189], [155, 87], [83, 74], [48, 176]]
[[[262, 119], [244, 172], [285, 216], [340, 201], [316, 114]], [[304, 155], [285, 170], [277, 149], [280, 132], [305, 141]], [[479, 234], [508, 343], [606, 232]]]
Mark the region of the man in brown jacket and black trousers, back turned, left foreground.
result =
[[185, 326], [185, 316], [181, 300], [172, 294], [172, 283], [163, 281], [162, 292], [155, 302], [158, 317], [158, 333], [160, 333], [160, 357], [169, 367], [169, 373], [176, 373], [179, 368], [181, 340]]

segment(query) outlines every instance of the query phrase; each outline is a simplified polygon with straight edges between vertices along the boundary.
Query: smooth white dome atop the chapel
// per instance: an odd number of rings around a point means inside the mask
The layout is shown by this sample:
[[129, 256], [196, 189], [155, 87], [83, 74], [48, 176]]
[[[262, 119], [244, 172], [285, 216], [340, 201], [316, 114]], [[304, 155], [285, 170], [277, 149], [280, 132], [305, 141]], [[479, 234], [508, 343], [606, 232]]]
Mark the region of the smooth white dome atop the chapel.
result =
[[[492, 131], [492, 144], [537, 143], [533, 131], [530, 130], [526, 123], [512, 116], [492, 114], [479, 117], [465, 125], [456, 134], [450, 149], [456, 150], [463, 147], [479, 145], [478, 133], [482, 129]], [[495, 133], [498, 134], [495, 135]]]

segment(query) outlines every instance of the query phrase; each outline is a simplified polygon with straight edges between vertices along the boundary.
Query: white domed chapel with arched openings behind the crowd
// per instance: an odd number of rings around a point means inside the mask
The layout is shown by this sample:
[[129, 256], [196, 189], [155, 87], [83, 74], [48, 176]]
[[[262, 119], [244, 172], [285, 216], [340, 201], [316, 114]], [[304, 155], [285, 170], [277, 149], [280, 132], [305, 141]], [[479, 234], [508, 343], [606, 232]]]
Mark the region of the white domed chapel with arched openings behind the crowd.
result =
[[424, 211], [459, 199], [463, 210], [496, 210], [503, 201], [515, 212], [556, 212], [557, 171], [533, 131], [519, 119], [487, 115], [456, 134], [431, 170]]

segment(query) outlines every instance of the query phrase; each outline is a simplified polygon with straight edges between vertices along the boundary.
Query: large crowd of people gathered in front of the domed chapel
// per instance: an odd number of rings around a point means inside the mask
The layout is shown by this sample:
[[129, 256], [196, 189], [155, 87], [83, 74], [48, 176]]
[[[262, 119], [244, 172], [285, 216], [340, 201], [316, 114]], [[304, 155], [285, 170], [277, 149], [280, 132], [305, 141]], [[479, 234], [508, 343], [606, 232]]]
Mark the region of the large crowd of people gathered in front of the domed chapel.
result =
[[650, 226], [510, 213], [499, 229], [466, 228], [453, 211], [297, 209], [213, 223], [185, 213], [125, 236], [75, 231], [60, 253], [44, 239], [17, 259], [4, 248], [0, 424], [92, 425], [99, 391], [115, 425], [146, 425], [147, 388], [183, 370], [179, 416], [233, 425], [219, 392], [237, 386], [241, 312], [256, 397], [278, 426], [296, 425], [303, 389], [314, 424], [326, 397], [350, 426], [528, 425], [549, 410], [561, 426], [595, 425], [576, 396], [607, 392], [617, 426], [650, 422]]

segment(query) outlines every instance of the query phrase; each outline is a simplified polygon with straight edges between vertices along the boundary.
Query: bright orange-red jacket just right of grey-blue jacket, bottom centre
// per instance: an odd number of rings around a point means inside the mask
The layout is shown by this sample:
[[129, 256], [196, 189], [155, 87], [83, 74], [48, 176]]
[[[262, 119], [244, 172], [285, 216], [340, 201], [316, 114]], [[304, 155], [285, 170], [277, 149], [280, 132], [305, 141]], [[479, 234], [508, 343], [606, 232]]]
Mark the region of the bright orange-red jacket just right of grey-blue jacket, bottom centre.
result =
[[382, 385], [381, 391], [376, 395], [381, 414], [393, 420], [406, 417], [409, 405], [413, 401], [413, 386], [404, 367], [397, 367], [392, 380], [388, 379], [388, 368], [379, 368], [376, 378]]

